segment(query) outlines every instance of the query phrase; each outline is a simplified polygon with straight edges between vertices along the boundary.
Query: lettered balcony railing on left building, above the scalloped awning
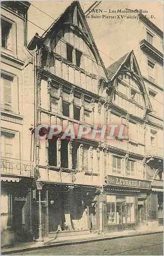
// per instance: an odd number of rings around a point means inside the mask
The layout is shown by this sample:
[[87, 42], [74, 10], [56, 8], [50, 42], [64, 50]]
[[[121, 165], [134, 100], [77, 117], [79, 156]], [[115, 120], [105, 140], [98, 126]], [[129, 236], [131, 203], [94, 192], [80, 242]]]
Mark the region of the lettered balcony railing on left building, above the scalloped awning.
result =
[[1, 174], [17, 177], [34, 177], [34, 163], [14, 158], [1, 158]]

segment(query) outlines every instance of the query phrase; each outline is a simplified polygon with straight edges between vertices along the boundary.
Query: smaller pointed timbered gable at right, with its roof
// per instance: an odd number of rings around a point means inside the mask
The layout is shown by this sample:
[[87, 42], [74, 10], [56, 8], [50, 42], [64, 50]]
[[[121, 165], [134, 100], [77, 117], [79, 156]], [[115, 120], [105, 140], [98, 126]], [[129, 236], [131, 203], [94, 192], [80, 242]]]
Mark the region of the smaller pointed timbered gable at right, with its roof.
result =
[[[120, 100], [122, 102], [120, 103], [121, 108], [125, 109], [128, 106], [128, 109], [130, 109], [135, 104], [136, 106], [138, 105], [137, 111], [139, 112], [140, 108], [152, 111], [144, 80], [133, 51], [125, 54], [118, 61], [110, 65], [107, 72], [113, 92], [116, 90], [120, 94], [120, 96], [116, 96], [115, 98], [122, 98]], [[124, 99], [125, 97], [129, 102], [127, 104]], [[115, 103], [119, 104], [118, 102]], [[136, 115], [137, 111], [133, 115]]]

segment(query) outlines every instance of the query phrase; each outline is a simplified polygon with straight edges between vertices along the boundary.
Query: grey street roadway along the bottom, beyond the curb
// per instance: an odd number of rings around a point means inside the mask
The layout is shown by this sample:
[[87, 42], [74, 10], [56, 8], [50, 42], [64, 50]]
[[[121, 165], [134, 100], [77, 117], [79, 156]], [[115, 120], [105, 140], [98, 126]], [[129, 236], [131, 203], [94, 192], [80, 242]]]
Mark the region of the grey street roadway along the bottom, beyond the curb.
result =
[[95, 241], [91, 243], [50, 247], [16, 255], [163, 255], [162, 233], [138, 237]]

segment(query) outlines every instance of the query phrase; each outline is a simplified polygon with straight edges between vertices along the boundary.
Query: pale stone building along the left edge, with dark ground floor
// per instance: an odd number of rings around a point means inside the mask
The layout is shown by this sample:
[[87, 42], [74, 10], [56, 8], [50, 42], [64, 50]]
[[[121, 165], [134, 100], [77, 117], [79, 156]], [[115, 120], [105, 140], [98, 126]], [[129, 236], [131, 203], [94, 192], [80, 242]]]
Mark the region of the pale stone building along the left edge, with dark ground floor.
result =
[[[22, 81], [30, 3], [1, 2], [1, 229], [2, 246], [31, 239], [33, 162]], [[33, 74], [31, 74], [32, 76]], [[29, 141], [26, 141], [26, 138]]]

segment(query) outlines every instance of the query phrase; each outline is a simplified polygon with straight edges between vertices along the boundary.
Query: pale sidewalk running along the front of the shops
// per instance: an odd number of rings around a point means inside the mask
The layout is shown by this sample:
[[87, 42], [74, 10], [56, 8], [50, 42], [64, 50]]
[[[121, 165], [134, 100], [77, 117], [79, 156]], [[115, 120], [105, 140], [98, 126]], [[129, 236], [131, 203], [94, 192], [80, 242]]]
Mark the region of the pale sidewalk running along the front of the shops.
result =
[[109, 240], [116, 238], [136, 237], [144, 234], [160, 233], [163, 232], [163, 226], [159, 226], [155, 229], [137, 229], [137, 230], [121, 230], [106, 234], [90, 233], [85, 236], [75, 237], [63, 237], [46, 239], [44, 242], [31, 242], [31, 243], [20, 243], [13, 247], [4, 247], [1, 250], [2, 254], [17, 253], [22, 251], [36, 250], [38, 248], [48, 248], [53, 246], [89, 243], [92, 241]]

